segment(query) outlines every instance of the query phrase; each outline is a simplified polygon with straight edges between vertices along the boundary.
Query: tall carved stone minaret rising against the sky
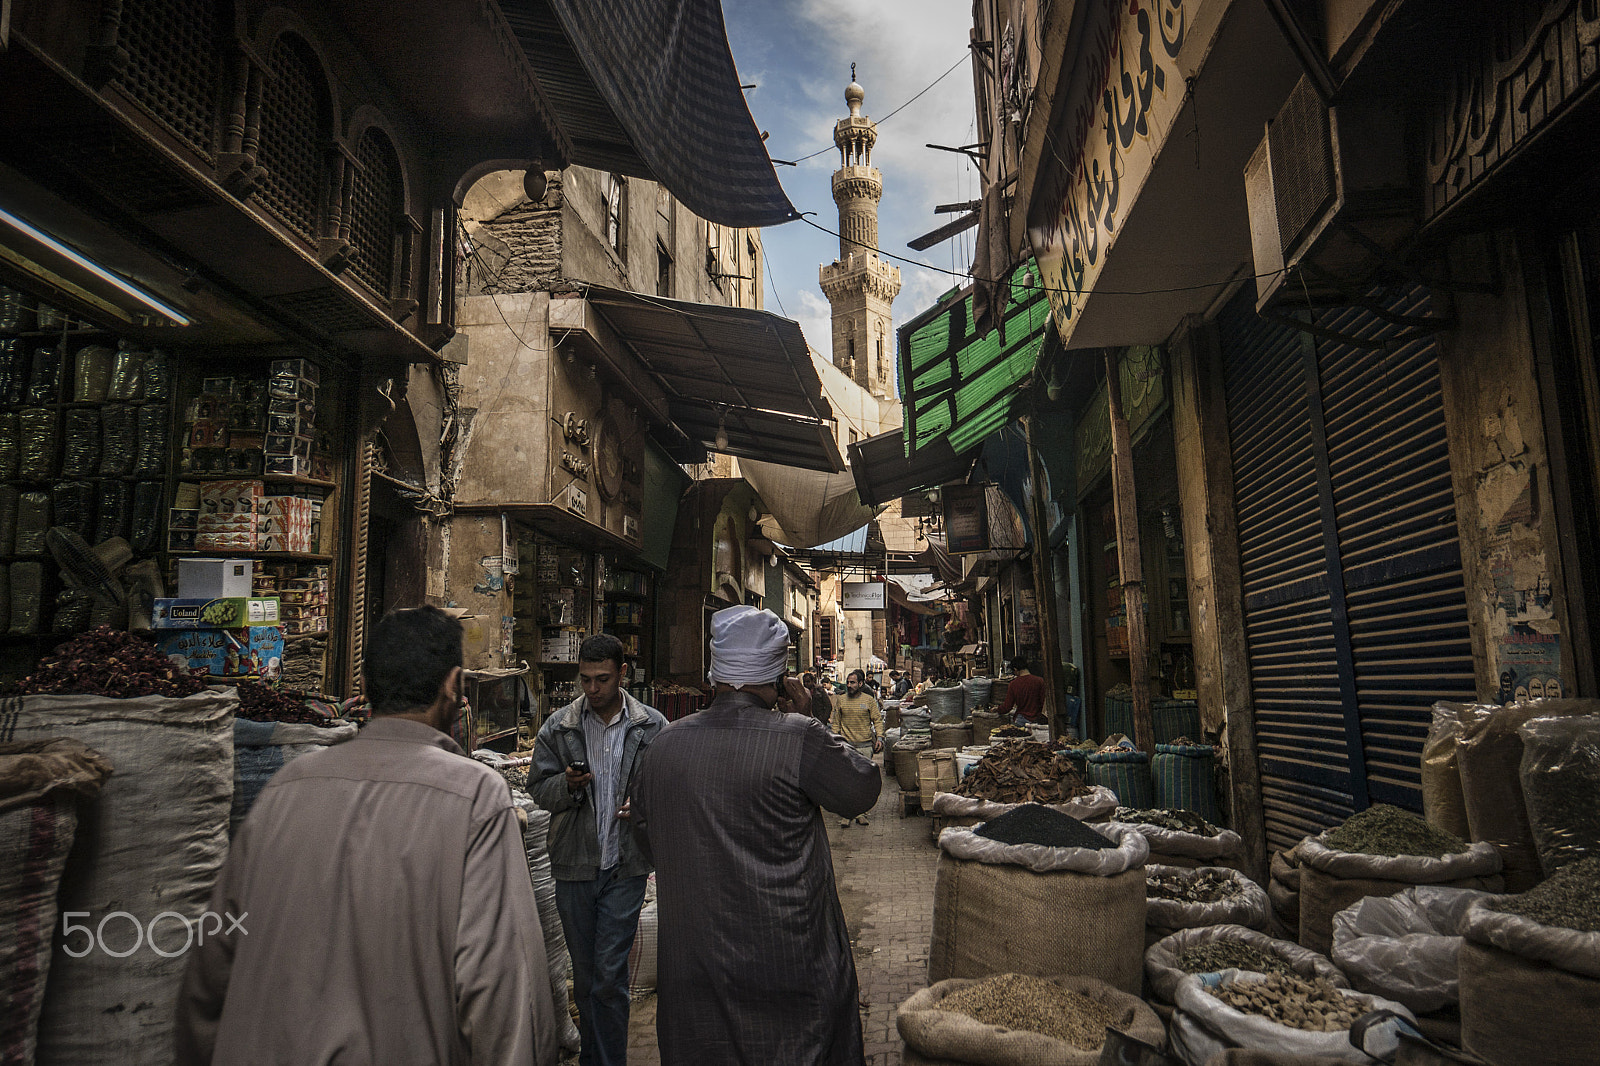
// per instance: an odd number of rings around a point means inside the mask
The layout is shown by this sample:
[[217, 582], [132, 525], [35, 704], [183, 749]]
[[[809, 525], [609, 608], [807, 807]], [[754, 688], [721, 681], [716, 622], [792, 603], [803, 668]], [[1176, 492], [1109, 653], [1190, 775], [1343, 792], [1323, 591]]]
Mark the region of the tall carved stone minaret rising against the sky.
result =
[[834, 306], [834, 365], [867, 392], [894, 395], [894, 333], [890, 309], [899, 293], [899, 267], [878, 256], [878, 200], [883, 174], [872, 165], [878, 126], [861, 114], [867, 91], [856, 83], [850, 64], [845, 102], [850, 117], [834, 126], [838, 170], [834, 171], [834, 203], [838, 205], [838, 258], [819, 272], [822, 295]]

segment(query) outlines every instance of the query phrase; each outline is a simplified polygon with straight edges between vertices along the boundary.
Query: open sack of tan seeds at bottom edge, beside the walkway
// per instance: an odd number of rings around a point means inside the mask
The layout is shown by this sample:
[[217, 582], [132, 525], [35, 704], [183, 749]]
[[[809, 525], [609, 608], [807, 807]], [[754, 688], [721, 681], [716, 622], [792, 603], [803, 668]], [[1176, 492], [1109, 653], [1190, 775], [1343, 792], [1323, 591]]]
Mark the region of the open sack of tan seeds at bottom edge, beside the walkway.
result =
[[901, 1039], [925, 1060], [976, 1066], [1094, 1066], [1106, 1029], [1160, 1047], [1166, 1032], [1138, 996], [1086, 976], [950, 978], [899, 1005]]

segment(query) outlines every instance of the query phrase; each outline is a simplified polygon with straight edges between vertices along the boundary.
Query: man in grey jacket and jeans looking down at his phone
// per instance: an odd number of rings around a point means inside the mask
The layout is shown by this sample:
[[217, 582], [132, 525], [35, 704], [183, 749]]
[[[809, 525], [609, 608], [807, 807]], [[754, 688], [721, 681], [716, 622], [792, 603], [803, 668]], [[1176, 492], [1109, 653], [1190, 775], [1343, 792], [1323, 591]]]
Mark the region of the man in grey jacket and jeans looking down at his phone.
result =
[[627, 1061], [627, 952], [645, 904], [645, 860], [626, 832], [634, 770], [667, 720], [622, 691], [622, 643], [595, 634], [578, 648], [584, 695], [549, 717], [528, 791], [550, 812], [555, 906], [573, 956], [581, 1066]]

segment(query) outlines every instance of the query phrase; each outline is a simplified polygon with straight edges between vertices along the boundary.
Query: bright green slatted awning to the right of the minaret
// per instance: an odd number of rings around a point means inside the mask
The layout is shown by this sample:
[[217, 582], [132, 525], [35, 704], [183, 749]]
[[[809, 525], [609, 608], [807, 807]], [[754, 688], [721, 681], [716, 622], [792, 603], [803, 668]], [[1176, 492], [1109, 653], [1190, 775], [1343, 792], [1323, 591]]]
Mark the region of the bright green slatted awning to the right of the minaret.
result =
[[958, 455], [1014, 418], [1018, 384], [1034, 373], [1050, 328], [1050, 304], [1032, 259], [1019, 262], [1000, 291], [1003, 330], [978, 336], [970, 285], [901, 327], [907, 456], [938, 440]]

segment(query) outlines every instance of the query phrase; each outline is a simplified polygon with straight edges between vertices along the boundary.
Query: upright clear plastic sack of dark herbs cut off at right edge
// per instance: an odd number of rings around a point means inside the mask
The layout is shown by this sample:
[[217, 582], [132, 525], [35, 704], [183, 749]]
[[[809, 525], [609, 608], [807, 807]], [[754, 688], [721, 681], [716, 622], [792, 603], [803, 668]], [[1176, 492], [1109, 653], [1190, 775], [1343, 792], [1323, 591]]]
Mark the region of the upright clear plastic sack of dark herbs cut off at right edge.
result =
[[1600, 719], [1531, 719], [1520, 733], [1522, 795], [1549, 877], [1600, 855]]

